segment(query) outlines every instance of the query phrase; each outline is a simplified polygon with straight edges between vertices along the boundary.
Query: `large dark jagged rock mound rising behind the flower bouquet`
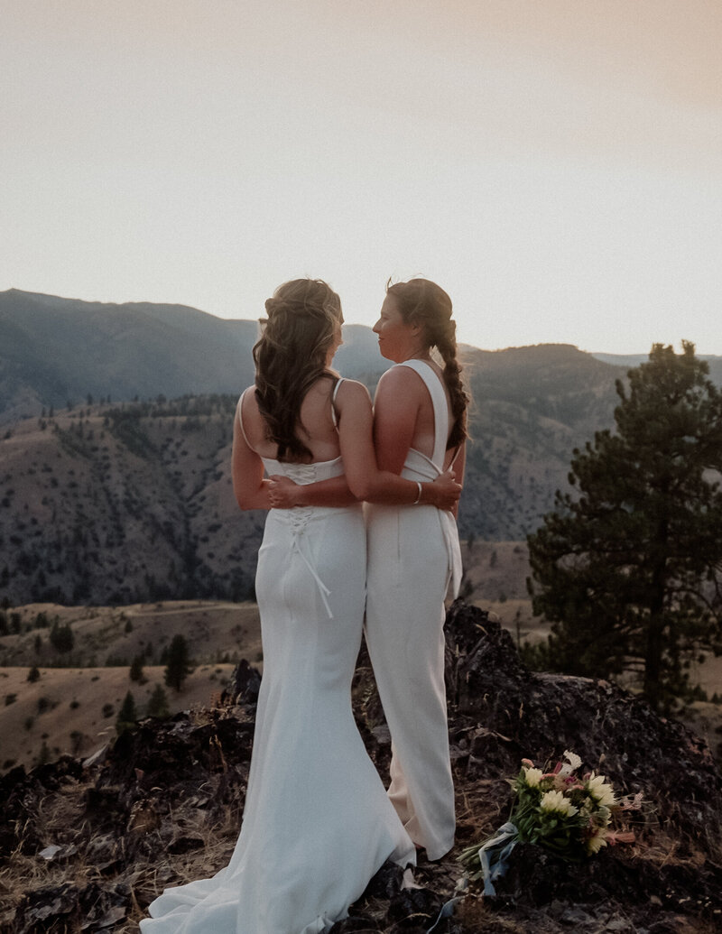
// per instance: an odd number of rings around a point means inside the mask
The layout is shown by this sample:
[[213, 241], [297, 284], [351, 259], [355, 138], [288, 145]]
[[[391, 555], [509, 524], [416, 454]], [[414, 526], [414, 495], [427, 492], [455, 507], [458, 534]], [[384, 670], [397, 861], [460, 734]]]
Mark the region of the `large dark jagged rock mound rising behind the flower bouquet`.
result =
[[697, 734], [607, 681], [530, 672], [509, 633], [460, 601], [446, 641], [452, 742], [466, 727], [470, 777], [513, 777], [522, 758], [543, 765], [569, 749], [619, 792], [644, 792], [662, 825], [720, 853], [722, 775]]

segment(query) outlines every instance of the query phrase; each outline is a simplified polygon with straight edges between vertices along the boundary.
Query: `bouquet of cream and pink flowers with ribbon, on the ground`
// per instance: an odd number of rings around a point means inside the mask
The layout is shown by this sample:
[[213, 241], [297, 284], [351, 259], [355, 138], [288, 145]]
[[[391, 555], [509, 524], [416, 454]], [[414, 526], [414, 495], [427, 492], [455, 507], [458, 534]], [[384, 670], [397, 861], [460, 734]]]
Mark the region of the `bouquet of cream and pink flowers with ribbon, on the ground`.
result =
[[509, 821], [488, 841], [467, 847], [459, 856], [470, 882], [483, 878], [484, 891], [494, 894], [493, 881], [503, 875], [506, 860], [517, 842], [536, 843], [564, 859], [578, 861], [599, 853], [608, 843], [632, 842], [632, 833], [610, 829], [612, 815], [637, 809], [634, 800], [617, 800], [603, 775], [593, 771], [579, 777], [582, 760], [565, 752], [565, 762], [552, 771], [521, 760], [514, 783], [515, 801]]

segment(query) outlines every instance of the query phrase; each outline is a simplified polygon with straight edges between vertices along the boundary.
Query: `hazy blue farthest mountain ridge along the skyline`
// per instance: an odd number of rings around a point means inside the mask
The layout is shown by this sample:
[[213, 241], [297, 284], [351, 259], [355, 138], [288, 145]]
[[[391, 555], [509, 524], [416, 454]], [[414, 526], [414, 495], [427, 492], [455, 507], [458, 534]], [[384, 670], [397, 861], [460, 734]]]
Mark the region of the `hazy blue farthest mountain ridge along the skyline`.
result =
[[[0, 423], [38, 415], [50, 405], [78, 404], [89, 395], [129, 401], [236, 394], [252, 382], [250, 351], [258, 333], [256, 320], [216, 318], [188, 305], [0, 292]], [[336, 365], [373, 386], [389, 366], [378, 354], [375, 334], [347, 325], [344, 339]], [[627, 368], [646, 360], [644, 354], [587, 354], [565, 344], [462, 349], [474, 367], [500, 375], [517, 363], [573, 373], [572, 360]], [[707, 359], [722, 384], [722, 357]]]

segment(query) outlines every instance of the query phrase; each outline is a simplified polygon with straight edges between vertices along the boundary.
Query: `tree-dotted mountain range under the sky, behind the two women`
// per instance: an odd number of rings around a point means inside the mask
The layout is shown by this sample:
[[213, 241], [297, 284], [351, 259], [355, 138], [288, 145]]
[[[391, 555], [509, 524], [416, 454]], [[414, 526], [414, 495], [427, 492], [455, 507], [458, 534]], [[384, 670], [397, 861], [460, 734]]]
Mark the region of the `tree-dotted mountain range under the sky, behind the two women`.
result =
[[[168, 304], [0, 293], [0, 589], [13, 602], [239, 599], [262, 515], [230, 479], [234, 403], [258, 323]], [[338, 369], [374, 389], [375, 334], [344, 329]], [[473, 394], [463, 538], [517, 541], [567, 487], [573, 448], [610, 427], [644, 358], [571, 345], [461, 347]], [[722, 357], [710, 372], [722, 384]]]

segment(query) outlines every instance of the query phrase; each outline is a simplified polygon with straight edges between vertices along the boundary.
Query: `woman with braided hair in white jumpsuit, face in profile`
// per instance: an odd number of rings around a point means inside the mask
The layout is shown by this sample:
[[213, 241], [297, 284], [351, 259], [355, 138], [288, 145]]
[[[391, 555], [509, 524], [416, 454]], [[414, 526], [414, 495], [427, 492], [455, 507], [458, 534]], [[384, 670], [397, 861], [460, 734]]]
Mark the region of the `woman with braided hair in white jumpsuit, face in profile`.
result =
[[[397, 365], [376, 389], [379, 468], [411, 480], [453, 465], [463, 480], [468, 397], [446, 292], [426, 279], [389, 288], [374, 327]], [[432, 359], [437, 347], [445, 366]], [[454, 844], [444, 684], [444, 600], [457, 596], [455, 516], [432, 506], [367, 506], [366, 643], [391, 733], [389, 798], [429, 859]]]

